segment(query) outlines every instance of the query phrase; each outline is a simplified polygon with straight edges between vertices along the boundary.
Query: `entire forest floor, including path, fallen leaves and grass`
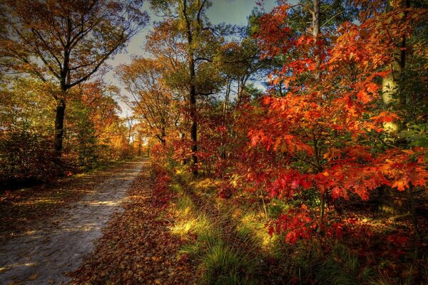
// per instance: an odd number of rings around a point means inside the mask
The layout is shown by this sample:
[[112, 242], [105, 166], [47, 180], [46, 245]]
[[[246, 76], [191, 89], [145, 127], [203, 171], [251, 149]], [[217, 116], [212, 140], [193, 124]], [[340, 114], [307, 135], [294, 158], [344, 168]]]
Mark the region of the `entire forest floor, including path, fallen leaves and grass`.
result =
[[289, 245], [266, 228], [287, 205], [189, 173], [140, 160], [4, 194], [0, 284], [426, 284], [407, 219], [352, 209], [340, 242]]

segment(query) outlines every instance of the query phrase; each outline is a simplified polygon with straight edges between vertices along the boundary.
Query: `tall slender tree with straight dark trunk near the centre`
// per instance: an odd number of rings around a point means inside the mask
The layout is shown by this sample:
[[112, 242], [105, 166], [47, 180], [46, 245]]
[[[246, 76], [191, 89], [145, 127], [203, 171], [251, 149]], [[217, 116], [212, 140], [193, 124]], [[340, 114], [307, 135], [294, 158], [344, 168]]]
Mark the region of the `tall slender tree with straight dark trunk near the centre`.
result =
[[214, 28], [206, 19], [205, 11], [211, 5], [208, 0], [151, 1], [153, 9], [163, 11], [168, 16], [156, 26], [148, 36], [148, 51], [161, 62], [171, 65], [175, 70], [173, 82], [187, 93], [190, 117], [190, 138], [193, 162], [193, 175], [198, 175], [198, 114], [199, 95], [213, 94], [218, 78], [211, 62], [218, 46]]

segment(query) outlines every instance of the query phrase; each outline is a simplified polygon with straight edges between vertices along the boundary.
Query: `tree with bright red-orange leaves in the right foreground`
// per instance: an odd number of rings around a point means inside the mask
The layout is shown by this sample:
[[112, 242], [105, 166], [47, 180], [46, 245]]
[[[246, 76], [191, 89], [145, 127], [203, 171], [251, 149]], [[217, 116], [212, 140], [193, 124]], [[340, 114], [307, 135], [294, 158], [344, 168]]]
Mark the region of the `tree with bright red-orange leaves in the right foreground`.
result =
[[[287, 25], [290, 5], [277, 6], [260, 19], [263, 53], [285, 57], [282, 68], [270, 75], [273, 85], [284, 83], [285, 93], [277, 97], [271, 89], [261, 108], [254, 108], [258, 120], [249, 120], [254, 124], [249, 137], [250, 153], [257, 156], [249, 159], [253, 165], [238, 165], [251, 185], [264, 185], [271, 197], [318, 197], [306, 199], [272, 227], [287, 231], [289, 242], [325, 229], [328, 200], [368, 199], [382, 185], [404, 191], [427, 183], [426, 150], [387, 145], [384, 123], [399, 116], [379, 107], [380, 82], [389, 76], [382, 68], [394, 61], [394, 38], [411, 33], [422, 11], [407, 10], [412, 15], [407, 19], [402, 11], [375, 14], [327, 33], [322, 21], [329, 20], [318, 14], [320, 5], [313, 1], [312, 26], [302, 33]], [[260, 173], [255, 160], [269, 167]]]

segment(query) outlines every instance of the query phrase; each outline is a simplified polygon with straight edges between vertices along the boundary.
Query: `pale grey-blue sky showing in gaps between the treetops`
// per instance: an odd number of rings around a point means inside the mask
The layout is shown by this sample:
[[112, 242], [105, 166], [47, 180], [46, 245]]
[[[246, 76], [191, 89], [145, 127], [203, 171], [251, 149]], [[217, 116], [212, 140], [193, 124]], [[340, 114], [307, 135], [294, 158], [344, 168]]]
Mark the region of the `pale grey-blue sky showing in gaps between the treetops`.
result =
[[[212, 0], [213, 6], [207, 11], [208, 19], [212, 24], [236, 24], [245, 26], [247, 24], [247, 17], [251, 14], [251, 11], [256, 6], [256, 0]], [[270, 11], [275, 6], [275, 0], [264, 1], [265, 11]], [[143, 9], [149, 10], [148, 3], [145, 3]], [[149, 11], [151, 16], [151, 24], [143, 29], [136, 36], [131, 38], [128, 43], [126, 51], [119, 53], [114, 58], [111, 58], [106, 63], [111, 66], [109, 71], [104, 77], [106, 83], [113, 84], [121, 88], [121, 83], [114, 76], [114, 68], [122, 63], [131, 63], [132, 56], [147, 56], [144, 52], [144, 45], [146, 43], [146, 35], [149, 31], [153, 30], [153, 21], [158, 21], [159, 18], [153, 15]], [[121, 88], [121, 92], [126, 94], [126, 90]], [[131, 115], [131, 110], [128, 109], [126, 104], [120, 102], [119, 105], [122, 108], [122, 116]]]

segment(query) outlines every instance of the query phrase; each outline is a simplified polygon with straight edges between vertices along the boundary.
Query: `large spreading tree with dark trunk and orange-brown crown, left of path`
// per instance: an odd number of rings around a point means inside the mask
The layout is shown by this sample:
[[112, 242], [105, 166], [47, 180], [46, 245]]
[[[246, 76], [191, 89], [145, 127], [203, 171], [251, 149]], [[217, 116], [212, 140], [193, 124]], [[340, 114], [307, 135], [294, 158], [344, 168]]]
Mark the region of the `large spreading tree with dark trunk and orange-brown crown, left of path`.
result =
[[0, 4], [1, 66], [55, 81], [56, 157], [63, 148], [68, 90], [87, 81], [148, 21], [142, 1], [13, 1]]

